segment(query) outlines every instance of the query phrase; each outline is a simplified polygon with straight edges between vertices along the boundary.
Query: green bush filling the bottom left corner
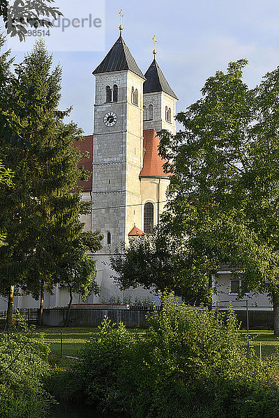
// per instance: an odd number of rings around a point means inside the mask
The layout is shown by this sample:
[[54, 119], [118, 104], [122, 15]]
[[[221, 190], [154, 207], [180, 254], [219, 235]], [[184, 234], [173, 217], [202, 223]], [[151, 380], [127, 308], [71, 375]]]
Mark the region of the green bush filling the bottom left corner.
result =
[[48, 353], [43, 334], [35, 339], [24, 321], [19, 330], [0, 334], [0, 417], [47, 416], [52, 400], [42, 380], [49, 373]]

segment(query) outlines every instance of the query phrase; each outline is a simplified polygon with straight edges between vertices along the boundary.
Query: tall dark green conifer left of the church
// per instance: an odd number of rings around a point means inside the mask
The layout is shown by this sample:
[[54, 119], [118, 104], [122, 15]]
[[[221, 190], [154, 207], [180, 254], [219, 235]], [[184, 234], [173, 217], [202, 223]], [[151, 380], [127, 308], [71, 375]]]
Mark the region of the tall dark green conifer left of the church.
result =
[[44, 290], [51, 290], [65, 251], [75, 248], [83, 228], [80, 215], [90, 211], [77, 186], [88, 174], [77, 168], [81, 155], [73, 147], [82, 130], [63, 123], [70, 110], [56, 110], [61, 68], [51, 68], [52, 57], [38, 42], [17, 68], [31, 100], [24, 102], [24, 118], [16, 126], [29, 146], [0, 144], [3, 164], [14, 173], [13, 186], [0, 188], [0, 225], [6, 226], [7, 242], [0, 248], [0, 287], [10, 288], [9, 307], [15, 285], [40, 297], [41, 315]]

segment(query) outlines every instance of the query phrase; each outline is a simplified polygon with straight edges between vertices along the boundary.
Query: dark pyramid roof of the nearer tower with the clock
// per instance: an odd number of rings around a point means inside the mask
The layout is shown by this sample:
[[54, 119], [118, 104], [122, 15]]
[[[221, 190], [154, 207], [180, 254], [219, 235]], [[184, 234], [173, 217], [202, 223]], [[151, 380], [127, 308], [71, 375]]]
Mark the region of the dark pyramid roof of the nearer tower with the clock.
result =
[[130, 53], [129, 48], [120, 35], [112, 49], [110, 49], [110, 52], [108, 52], [107, 56], [105, 56], [105, 59], [103, 59], [96, 70], [93, 71], [93, 74], [95, 75], [102, 72], [114, 72], [123, 70], [130, 70], [134, 72], [134, 74], [144, 79], [142, 71], [137, 66], [133, 55]]

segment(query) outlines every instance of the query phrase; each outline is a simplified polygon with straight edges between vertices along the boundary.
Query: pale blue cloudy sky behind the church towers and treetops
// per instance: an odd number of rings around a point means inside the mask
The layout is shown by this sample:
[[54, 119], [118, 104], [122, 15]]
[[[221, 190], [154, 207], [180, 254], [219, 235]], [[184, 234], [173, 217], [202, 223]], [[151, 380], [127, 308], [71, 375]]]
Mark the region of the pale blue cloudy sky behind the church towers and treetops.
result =
[[[76, 10], [78, 2], [67, 1]], [[205, 80], [217, 70], [225, 71], [230, 61], [248, 59], [244, 80], [250, 88], [279, 65], [278, 0], [99, 1], [105, 3], [100, 42], [86, 31], [79, 51], [53, 52], [54, 65], [60, 63], [63, 68], [60, 108], [73, 106], [71, 119], [85, 134], [93, 132], [92, 71], [119, 37], [120, 8], [124, 14], [123, 38], [142, 72], [153, 59], [154, 34], [158, 38], [156, 59], [179, 97], [177, 111], [198, 100]], [[98, 6], [94, 8], [92, 13], [98, 15]], [[85, 43], [93, 45], [91, 51], [82, 51]], [[24, 56], [15, 50], [12, 55], [17, 62]]]

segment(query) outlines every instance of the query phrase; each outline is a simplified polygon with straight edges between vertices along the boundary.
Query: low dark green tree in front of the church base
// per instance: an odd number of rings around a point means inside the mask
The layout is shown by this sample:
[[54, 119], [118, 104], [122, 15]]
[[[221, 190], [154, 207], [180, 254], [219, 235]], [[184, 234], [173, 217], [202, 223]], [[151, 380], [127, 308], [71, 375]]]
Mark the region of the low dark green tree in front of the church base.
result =
[[[181, 231], [185, 237], [185, 232]], [[110, 258], [110, 266], [121, 289], [142, 286], [158, 291], [174, 291], [183, 300], [210, 298], [209, 272], [215, 268], [202, 254], [195, 256], [188, 240], [174, 240], [161, 227], [153, 235], [140, 235]]]

